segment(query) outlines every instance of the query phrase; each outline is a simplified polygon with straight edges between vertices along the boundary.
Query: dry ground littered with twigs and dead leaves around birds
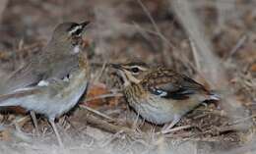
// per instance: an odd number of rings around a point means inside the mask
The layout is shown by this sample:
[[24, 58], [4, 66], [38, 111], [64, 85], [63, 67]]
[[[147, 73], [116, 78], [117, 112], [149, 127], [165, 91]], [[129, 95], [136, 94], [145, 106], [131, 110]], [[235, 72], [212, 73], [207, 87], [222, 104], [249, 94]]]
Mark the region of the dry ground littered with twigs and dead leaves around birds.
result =
[[[84, 40], [92, 70], [88, 95], [58, 120], [65, 149], [43, 116], [0, 115], [0, 153], [256, 153], [255, 0], [1, 0], [0, 77], [38, 54], [62, 22], [91, 21]], [[105, 65], [140, 59], [219, 91], [223, 99], [186, 115], [176, 129], [130, 110]]]

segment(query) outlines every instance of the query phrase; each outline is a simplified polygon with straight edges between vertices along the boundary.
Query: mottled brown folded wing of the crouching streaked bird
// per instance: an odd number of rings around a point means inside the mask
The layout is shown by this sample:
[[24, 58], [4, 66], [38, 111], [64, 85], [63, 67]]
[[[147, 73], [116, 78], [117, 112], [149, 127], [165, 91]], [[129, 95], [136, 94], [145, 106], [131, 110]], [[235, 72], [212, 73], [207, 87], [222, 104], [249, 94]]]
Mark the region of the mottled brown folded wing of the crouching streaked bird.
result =
[[147, 86], [148, 90], [166, 99], [183, 100], [188, 99], [193, 94], [207, 94], [207, 89], [200, 83], [177, 74], [171, 70], [160, 71], [158, 76], [149, 75], [143, 84]]

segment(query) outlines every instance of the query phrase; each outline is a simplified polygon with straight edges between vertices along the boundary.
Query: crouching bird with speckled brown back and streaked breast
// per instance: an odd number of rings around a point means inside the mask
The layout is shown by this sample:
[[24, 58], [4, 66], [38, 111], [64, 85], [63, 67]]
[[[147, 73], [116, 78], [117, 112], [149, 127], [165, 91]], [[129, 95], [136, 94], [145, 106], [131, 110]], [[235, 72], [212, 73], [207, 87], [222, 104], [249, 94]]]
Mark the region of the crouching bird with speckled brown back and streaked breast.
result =
[[164, 125], [162, 133], [169, 132], [202, 102], [220, 99], [218, 94], [191, 77], [166, 67], [150, 67], [141, 61], [109, 66], [121, 78], [129, 106], [146, 121]]

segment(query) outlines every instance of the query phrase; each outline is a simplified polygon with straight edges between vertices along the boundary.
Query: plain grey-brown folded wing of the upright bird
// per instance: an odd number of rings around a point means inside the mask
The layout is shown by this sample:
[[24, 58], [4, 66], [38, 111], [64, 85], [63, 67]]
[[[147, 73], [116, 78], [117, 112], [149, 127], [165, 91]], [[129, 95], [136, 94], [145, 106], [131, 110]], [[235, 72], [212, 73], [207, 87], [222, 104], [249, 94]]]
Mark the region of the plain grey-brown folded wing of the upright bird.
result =
[[70, 71], [77, 66], [78, 60], [75, 56], [56, 56], [53, 53], [41, 53], [33, 57], [23, 68], [4, 79], [5, 81], [0, 81], [0, 94], [6, 94], [16, 89], [36, 85], [40, 80], [51, 78], [62, 79], [68, 76]]

